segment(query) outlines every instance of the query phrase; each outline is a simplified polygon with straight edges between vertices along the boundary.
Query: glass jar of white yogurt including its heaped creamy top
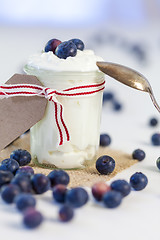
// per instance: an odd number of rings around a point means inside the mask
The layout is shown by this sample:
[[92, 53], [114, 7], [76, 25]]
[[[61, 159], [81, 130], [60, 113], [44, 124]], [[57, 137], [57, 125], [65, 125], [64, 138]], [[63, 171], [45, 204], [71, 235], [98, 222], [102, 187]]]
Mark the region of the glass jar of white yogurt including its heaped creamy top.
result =
[[[104, 74], [97, 61], [103, 61], [92, 50], [77, 50], [74, 57], [58, 58], [53, 52], [32, 55], [24, 71], [36, 76], [53, 90], [63, 91], [79, 86], [99, 85]], [[62, 169], [84, 168], [96, 160], [99, 147], [103, 90], [93, 94], [56, 96], [63, 106], [63, 119], [69, 141], [59, 145], [59, 131], [55, 120], [55, 104], [49, 101], [45, 116], [31, 128], [31, 155], [39, 164]]]

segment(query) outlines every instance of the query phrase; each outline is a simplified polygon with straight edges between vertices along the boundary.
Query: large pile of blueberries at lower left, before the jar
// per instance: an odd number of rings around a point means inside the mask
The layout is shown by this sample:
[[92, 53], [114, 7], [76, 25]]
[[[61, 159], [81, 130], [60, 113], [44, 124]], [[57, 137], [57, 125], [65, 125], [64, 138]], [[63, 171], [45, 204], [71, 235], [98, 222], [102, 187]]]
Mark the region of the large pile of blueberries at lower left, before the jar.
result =
[[63, 170], [53, 170], [48, 176], [35, 174], [28, 166], [31, 155], [28, 151], [18, 149], [11, 153], [10, 158], [0, 164], [0, 190], [2, 199], [15, 203], [16, 208], [23, 213], [23, 223], [28, 228], [35, 228], [43, 221], [43, 215], [36, 210], [34, 195], [43, 194], [48, 190], [58, 203], [63, 203], [59, 209], [59, 219], [69, 221], [74, 215], [74, 208], [87, 203], [89, 197], [81, 187], [67, 189], [69, 175]]

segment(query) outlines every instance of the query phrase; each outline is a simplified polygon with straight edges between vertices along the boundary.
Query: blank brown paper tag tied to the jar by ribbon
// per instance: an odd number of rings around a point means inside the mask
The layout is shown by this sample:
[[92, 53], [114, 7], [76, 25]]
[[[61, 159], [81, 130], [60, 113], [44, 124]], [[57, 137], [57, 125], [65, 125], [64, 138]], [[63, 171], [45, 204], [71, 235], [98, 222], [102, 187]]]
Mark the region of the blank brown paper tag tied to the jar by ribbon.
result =
[[[41, 85], [35, 76], [15, 74], [6, 84]], [[31, 128], [44, 116], [47, 100], [43, 97], [11, 97], [0, 99], [0, 150]]]

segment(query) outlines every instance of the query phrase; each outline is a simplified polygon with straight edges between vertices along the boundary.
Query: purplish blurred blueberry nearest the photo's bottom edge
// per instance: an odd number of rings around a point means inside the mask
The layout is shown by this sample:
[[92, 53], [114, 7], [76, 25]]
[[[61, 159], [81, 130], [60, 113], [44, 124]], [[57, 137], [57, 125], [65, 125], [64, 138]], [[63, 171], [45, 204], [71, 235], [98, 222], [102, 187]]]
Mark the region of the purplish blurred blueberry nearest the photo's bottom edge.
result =
[[27, 208], [24, 211], [23, 223], [27, 228], [36, 228], [43, 221], [42, 214], [35, 208]]

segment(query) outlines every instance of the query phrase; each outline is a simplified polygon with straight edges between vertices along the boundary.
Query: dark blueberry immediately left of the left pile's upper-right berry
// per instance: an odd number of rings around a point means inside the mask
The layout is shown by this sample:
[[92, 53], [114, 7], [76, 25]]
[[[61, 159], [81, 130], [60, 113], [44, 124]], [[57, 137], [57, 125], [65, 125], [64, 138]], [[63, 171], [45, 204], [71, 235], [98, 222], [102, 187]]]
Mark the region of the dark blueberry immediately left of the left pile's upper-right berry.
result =
[[42, 173], [34, 174], [31, 177], [31, 181], [32, 181], [33, 189], [37, 194], [42, 194], [48, 191], [50, 188], [49, 178]]

